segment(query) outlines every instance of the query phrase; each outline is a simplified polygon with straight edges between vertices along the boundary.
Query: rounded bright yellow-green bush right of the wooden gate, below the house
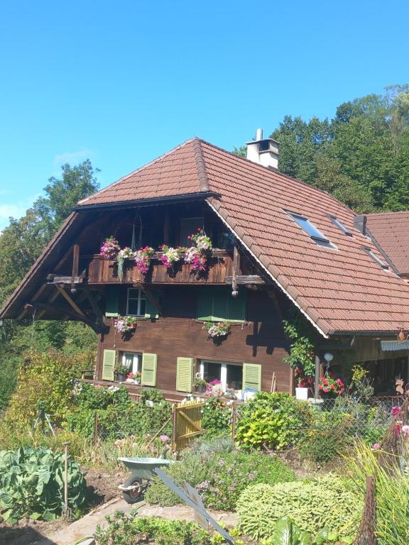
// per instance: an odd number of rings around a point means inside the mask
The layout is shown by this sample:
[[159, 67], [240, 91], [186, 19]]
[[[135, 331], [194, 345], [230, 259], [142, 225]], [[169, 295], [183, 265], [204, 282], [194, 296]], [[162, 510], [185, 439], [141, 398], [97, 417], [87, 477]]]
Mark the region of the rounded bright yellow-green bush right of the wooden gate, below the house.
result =
[[246, 449], [280, 450], [296, 444], [311, 419], [307, 402], [283, 392], [258, 392], [239, 411], [236, 441]]

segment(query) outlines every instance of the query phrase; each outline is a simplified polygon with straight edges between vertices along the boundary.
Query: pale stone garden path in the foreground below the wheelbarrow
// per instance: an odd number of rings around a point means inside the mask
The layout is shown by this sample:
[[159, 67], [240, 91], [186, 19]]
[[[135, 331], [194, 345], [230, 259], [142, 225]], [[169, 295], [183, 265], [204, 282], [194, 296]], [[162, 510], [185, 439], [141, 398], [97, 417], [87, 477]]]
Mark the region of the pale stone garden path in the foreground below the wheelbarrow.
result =
[[[86, 514], [82, 519], [72, 522], [70, 526], [56, 532], [49, 538], [36, 541], [32, 545], [74, 545], [76, 541], [87, 536], [92, 536], [98, 524], [101, 527], [106, 527], [108, 524], [105, 520], [107, 514], [113, 514], [115, 511], [129, 513], [135, 508], [138, 508], [138, 514], [141, 517], [162, 517], [163, 519], [186, 521], [193, 521], [195, 519], [192, 508], [186, 505], [158, 507], [156, 505], [147, 505], [145, 502], [129, 505], [125, 500], [118, 498], [101, 505], [96, 510]], [[236, 525], [237, 519], [235, 513], [209, 511], [209, 514], [212, 514], [212, 517], [217, 521], [223, 521], [229, 526]], [[93, 539], [88, 539], [87, 541], [82, 541], [81, 545], [92, 545], [93, 543]]]

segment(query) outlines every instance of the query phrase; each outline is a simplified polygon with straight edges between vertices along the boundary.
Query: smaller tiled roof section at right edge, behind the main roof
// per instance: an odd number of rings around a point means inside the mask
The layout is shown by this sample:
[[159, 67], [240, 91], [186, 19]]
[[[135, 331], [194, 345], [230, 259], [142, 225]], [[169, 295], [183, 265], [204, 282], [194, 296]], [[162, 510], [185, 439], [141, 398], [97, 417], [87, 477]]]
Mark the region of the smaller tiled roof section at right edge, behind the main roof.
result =
[[409, 274], [409, 210], [368, 214], [366, 225], [401, 275]]

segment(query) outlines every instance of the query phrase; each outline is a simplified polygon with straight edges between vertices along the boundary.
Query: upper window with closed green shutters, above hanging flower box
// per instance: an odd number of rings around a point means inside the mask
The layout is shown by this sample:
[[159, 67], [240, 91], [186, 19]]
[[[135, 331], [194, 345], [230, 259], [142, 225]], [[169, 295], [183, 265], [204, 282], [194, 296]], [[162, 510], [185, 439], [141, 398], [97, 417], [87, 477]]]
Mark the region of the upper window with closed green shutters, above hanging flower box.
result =
[[245, 321], [246, 290], [231, 296], [229, 287], [202, 287], [197, 296], [197, 319], [200, 321]]

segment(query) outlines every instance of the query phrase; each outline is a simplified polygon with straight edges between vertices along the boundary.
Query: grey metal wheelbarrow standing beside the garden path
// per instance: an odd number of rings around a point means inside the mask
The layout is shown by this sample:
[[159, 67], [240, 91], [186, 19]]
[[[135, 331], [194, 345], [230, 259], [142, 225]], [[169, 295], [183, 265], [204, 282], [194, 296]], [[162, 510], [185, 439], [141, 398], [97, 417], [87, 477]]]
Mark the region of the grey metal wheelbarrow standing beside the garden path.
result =
[[153, 473], [155, 468], [173, 463], [173, 460], [164, 458], [118, 458], [118, 460], [132, 473], [131, 477], [118, 487], [127, 503], [136, 503], [141, 500], [149, 483], [155, 477]]

